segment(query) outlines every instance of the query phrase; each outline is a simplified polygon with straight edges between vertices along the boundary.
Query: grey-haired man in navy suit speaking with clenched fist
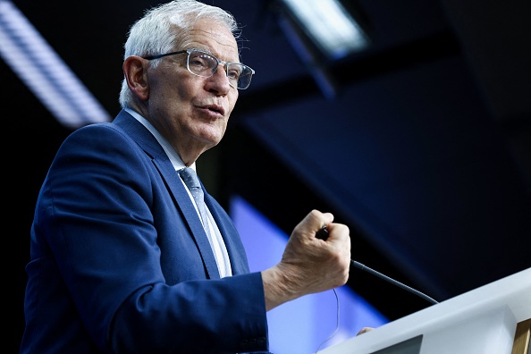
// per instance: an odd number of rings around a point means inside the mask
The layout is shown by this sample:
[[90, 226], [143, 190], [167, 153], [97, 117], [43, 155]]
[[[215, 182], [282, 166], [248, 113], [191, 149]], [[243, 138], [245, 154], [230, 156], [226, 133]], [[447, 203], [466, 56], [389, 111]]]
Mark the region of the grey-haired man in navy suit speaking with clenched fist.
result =
[[237, 38], [229, 13], [193, 0], [131, 27], [122, 111], [65, 139], [40, 190], [22, 353], [267, 350], [266, 311], [347, 282], [349, 229], [333, 215], [311, 211], [280, 263], [249, 273], [229, 215], [207, 193], [200, 214], [185, 185], [249, 86]]

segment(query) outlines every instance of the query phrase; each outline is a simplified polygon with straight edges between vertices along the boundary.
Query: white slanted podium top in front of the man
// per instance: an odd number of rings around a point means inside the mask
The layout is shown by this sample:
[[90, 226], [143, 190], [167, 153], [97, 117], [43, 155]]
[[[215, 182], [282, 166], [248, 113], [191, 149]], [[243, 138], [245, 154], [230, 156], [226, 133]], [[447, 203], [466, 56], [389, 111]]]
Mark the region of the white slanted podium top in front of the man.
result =
[[531, 268], [401, 317], [319, 353], [531, 354], [530, 333]]

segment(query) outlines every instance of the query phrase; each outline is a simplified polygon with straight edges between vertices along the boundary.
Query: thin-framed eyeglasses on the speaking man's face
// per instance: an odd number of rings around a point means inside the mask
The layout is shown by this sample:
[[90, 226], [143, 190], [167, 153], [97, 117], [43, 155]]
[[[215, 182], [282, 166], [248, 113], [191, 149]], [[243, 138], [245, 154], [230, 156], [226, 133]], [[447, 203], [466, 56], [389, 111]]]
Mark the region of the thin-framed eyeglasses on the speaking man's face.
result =
[[202, 78], [209, 78], [217, 71], [217, 67], [220, 63], [225, 65], [225, 73], [229, 79], [229, 83], [233, 88], [247, 89], [250, 85], [250, 80], [255, 73], [249, 66], [242, 63], [227, 63], [223, 60], [219, 60], [214, 55], [208, 54], [200, 49], [187, 49], [179, 52], [166, 53], [164, 55], [148, 55], [144, 56], [144, 59], [153, 60], [162, 58], [168, 55], [178, 55], [188, 53], [186, 60], [186, 67], [188, 71], [194, 75], [198, 75]]

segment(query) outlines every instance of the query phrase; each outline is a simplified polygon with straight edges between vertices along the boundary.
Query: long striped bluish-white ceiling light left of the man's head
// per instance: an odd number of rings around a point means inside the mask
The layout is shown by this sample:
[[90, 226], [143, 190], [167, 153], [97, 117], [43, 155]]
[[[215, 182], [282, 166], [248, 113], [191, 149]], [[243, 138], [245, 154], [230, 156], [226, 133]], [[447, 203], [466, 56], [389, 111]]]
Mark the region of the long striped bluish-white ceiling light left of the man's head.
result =
[[30, 21], [7, 0], [0, 1], [0, 56], [65, 127], [76, 129], [111, 120]]

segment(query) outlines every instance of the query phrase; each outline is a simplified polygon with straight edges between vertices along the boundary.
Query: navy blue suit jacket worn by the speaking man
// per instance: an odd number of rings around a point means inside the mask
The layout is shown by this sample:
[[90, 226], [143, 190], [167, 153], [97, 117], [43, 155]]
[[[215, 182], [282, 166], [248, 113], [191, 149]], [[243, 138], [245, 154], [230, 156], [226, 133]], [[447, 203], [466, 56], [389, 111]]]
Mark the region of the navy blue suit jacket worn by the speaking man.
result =
[[261, 275], [205, 194], [231, 259], [220, 279], [180, 177], [122, 111], [64, 140], [38, 195], [22, 353], [267, 349]]

